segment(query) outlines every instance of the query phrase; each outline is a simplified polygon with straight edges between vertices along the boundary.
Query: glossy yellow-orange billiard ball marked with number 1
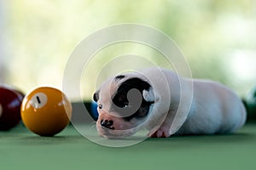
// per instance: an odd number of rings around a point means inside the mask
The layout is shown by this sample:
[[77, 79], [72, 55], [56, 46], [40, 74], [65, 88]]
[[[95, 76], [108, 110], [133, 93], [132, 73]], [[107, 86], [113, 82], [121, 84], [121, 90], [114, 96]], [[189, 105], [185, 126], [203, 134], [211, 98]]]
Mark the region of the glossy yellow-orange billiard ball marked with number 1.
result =
[[41, 87], [27, 94], [21, 104], [21, 119], [25, 126], [40, 136], [54, 136], [67, 127], [72, 105], [56, 88]]

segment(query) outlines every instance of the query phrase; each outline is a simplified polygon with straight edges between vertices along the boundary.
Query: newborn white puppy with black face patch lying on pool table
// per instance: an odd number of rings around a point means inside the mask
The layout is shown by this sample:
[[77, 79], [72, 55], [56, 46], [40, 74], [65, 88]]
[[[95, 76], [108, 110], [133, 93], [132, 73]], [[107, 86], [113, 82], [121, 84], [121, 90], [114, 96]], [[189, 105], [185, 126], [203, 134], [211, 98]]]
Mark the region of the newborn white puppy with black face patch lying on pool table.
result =
[[108, 139], [125, 138], [141, 128], [155, 138], [233, 133], [246, 122], [245, 107], [229, 88], [159, 67], [110, 77], [93, 99], [97, 131]]

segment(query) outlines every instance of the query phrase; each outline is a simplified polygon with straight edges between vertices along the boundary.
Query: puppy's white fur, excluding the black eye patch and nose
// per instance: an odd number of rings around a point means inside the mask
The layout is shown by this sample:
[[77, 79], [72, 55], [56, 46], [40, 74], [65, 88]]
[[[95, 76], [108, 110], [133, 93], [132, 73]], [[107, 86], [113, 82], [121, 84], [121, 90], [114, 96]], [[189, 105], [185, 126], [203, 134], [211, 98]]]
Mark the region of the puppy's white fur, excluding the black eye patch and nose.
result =
[[[169, 137], [172, 134], [213, 134], [233, 133], [246, 122], [246, 110], [241, 99], [229, 88], [218, 82], [185, 79], [172, 71], [151, 68], [141, 72], [124, 74], [119, 82], [109, 78], [98, 90], [99, 120], [97, 130], [100, 135], [125, 137], [147, 127], [151, 137]], [[143, 91], [143, 99], [154, 101], [148, 116], [142, 121], [124, 122], [110, 111], [111, 96], [120, 84], [137, 77], [151, 85]], [[108, 117], [114, 120], [117, 130], [101, 127], [100, 120]]]

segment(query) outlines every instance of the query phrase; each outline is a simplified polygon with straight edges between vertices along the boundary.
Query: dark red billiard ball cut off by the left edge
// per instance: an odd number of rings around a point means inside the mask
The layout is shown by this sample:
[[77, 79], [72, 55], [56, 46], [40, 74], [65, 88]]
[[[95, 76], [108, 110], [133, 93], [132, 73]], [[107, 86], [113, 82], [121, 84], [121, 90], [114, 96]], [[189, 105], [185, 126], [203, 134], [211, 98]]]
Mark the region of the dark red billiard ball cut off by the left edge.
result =
[[23, 97], [19, 90], [0, 85], [0, 130], [6, 131], [19, 124]]

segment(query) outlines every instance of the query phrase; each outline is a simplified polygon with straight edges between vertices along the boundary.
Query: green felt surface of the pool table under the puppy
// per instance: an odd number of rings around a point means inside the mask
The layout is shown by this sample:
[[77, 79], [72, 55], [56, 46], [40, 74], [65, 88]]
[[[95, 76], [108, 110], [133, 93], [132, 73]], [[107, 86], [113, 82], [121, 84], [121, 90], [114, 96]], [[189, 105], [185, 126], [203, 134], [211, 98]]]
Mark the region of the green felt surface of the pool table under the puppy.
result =
[[0, 132], [0, 169], [256, 169], [256, 123], [234, 134], [146, 139], [124, 148], [92, 143], [72, 125], [55, 137], [19, 125]]

